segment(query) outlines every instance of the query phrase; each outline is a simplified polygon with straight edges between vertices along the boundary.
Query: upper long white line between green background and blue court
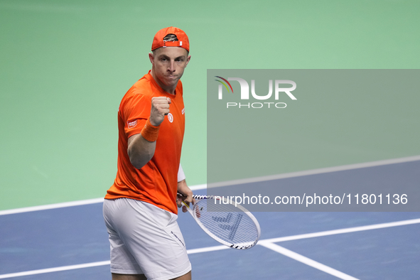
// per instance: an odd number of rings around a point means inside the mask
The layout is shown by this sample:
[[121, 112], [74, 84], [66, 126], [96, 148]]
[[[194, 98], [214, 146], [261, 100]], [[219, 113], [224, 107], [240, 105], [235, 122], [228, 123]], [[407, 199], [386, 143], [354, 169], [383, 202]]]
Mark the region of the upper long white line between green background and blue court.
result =
[[[333, 167], [328, 167], [328, 168], [318, 168], [318, 169], [312, 169], [312, 170], [307, 170], [307, 171], [298, 171], [298, 172], [284, 173], [284, 174], [271, 175], [271, 176], [262, 176], [262, 177], [256, 177], [256, 178], [247, 178], [247, 179], [225, 181], [225, 182], [219, 182], [219, 183], [193, 185], [190, 187], [190, 189], [203, 190], [205, 188], [225, 187], [227, 185], [238, 185], [238, 184], [243, 184], [243, 183], [257, 183], [257, 182], [262, 182], [262, 181], [270, 181], [270, 180], [283, 179], [283, 178], [329, 173], [329, 172], [335, 172], [335, 171], [345, 171], [345, 170], [366, 168], [366, 167], [373, 167], [373, 166], [384, 166], [387, 164], [404, 163], [404, 162], [410, 162], [410, 161], [420, 161], [420, 156], [407, 156], [404, 158], [386, 159], [384, 161], [355, 163], [355, 164], [350, 164], [346, 166], [333, 166]], [[16, 214], [16, 213], [21, 213], [21, 212], [31, 212], [31, 211], [38, 211], [38, 210], [63, 208], [63, 207], [86, 205], [86, 204], [92, 204], [92, 203], [102, 203], [103, 201], [104, 201], [103, 198], [94, 198], [94, 199], [88, 199], [88, 200], [70, 201], [68, 203], [56, 203], [56, 204], [40, 205], [40, 206], [27, 207], [27, 208], [1, 210], [0, 215], [9, 215], [9, 214]]]

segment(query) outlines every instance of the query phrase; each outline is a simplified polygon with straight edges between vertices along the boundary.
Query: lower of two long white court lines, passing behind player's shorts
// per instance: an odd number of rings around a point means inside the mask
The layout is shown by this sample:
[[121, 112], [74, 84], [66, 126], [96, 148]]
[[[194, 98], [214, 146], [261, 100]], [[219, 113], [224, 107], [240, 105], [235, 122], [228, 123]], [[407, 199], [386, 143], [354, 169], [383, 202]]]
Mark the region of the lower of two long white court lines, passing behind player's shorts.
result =
[[[289, 237], [262, 239], [262, 240], [259, 240], [258, 244], [264, 246], [264, 244], [272, 244], [273, 242], [282, 242], [282, 241], [304, 239], [304, 238], [311, 238], [311, 237], [321, 237], [321, 236], [327, 236], [327, 235], [338, 235], [338, 234], [343, 234], [343, 233], [348, 233], [348, 232], [358, 232], [358, 231], [362, 231], [362, 230], [374, 230], [374, 229], [379, 229], [379, 228], [397, 227], [399, 225], [412, 225], [412, 224], [417, 224], [417, 223], [420, 223], [420, 219], [403, 220], [403, 221], [399, 221], [399, 222], [385, 222], [383, 224], [365, 225], [365, 226], [362, 226], [362, 227], [348, 227], [348, 228], [341, 229], [341, 230], [327, 230], [325, 232], [313, 232], [313, 233], [308, 233], [306, 235], [292, 235], [292, 236], [289, 236]], [[273, 244], [273, 245], [276, 245], [276, 244]], [[264, 246], [264, 247], [266, 247], [266, 246]], [[273, 247], [273, 246], [271, 246], [271, 247]], [[287, 250], [283, 247], [281, 247], [281, 248], [284, 249], [284, 250]], [[227, 246], [224, 246], [224, 245], [212, 246], [212, 247], [203, 247], [203, 248], [197, 248], [197, 249], [189, 249], [189, 250], [187, 250], [187, 253], [188, 254], [197, 254], [197, 253], [203, 253], [203, 252], [219, 251], [219, 250], [223, 250], [223, 249], [230, 249], [230, 247], [227, 247]], [[271, 248], [269, 248], [269, 249], [271, 249]], [[274, 250], [274, 251], [276, 251], [276, 250]], [[283, 252], [286, 252], [286, 251], [283, 251]], [[290, 251], [290, 252], [294, 253], [292, 251]], [[281, 253], [281, 254], [283, 254], [283, 253]], [[294, 254], [298, 255], [297, 253], [294, 253]], [[303, 257], [303, 256], [301, 256], [301, 257]], [[305, 257], [303, 257], [303, 258], [305, 258]], [[306, 258], [306, 259], [308, 259], [308, 258]], [[315, 262], [313, 260], [311, 260], [311, 261]], [[80, 269], [80, 268], [84, 268], [84, 267], [101, 266], [101, 265], [108, 265], [108, 264], [109, 264], [109, 261], [106, 261], [106, 262], [91, 262], [89, 264], [76, 264], [76, 265], [72, 265], [72, 266], [60, 266], [60, 267], [55, 267], [55, 268], [51, 268], [51, 269], [38, 269], [38, 270], [32, 270], [32, 271], [23, 271], [23, 272], [18, 272], [18, 273], [12, 273], [12, 274], [1, 274], [0, 279], [4, 279], [4, 278], [8, 278], [8, 277], [11, 278], [11, 277], [17, 277], [17, 276], [31, 275], [31, 274], [41, 274], [41, 273], [47, 273], [47, 272], [53, 272], [53, 271]], [[321, 264], [321, 265], [323, 265], [323, 264]], [[326, 267], [329, 267], [329, 266], [326, 266]], [[340, 272], [340, 271], [338, 271], [338, 272]], [[351, 277], [351, 276], [349, 276], [349, 277]], [[349, 279], [355, 279], [355, 278], [349, 278]]]

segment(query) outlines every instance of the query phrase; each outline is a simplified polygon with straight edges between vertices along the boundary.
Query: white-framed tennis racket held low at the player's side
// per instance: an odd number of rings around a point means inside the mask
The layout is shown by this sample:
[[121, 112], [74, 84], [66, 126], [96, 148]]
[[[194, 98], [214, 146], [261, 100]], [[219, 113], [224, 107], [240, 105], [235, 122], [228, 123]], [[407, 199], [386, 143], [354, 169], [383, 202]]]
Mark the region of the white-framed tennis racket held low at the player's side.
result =
[[193, 198], [195, 204], [191, 208], [184, 205], [210, 237], [235, 249], [249, 249], [257, 244], [261, 229], [248, 210], [218, 196], [193, 195]]

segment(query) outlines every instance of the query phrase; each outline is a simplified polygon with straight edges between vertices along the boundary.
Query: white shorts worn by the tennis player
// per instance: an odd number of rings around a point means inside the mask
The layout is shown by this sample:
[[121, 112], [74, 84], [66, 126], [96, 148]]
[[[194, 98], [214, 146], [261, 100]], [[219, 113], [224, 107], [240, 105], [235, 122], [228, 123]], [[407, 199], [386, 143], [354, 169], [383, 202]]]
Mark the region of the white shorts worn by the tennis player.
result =
[[177, 215], [140, 200], [104, 200], [111, 272], [173, 279], [191, 270]]

